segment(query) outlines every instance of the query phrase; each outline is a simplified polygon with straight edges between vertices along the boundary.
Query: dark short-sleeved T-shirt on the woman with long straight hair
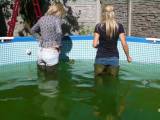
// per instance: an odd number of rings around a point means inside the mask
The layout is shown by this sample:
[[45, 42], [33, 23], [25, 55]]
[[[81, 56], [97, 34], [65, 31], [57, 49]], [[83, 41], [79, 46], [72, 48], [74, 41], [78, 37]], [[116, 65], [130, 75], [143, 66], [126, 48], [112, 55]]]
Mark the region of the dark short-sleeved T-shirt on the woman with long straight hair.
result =
[[120, 33], [124, 33], [122, 24], [118, 24], [118, 29], [112, 34], [112, 37], [107, 36], [106, 25], [99, 23], [95, 27], [95, 32], [99, 36], [99, 45], [97, 46], [97, 58], [100, 57], [119, 57], [117, 49], [117, 41]]

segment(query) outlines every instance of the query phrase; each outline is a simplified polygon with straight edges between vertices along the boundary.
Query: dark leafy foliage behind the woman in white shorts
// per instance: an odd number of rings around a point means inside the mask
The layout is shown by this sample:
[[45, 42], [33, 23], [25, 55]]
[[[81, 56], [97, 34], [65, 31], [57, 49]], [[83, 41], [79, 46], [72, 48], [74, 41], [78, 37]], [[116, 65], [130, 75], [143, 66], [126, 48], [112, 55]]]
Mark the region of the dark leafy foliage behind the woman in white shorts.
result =
[[[9, 19], [11, 17], [11, 9], [13, 7], [14, 0], [0, 0], [0, 8], [3, 8], [1, 16], [4, 16], [6, 19]], [[72, 11], [72, 8], [66, 3], [68, 1], [75, 2], [76, 0], [39, 0], [40, 8], [42, 11], [42, 14], [44, 14], [50, 4], [61, 2], [65, 9], [66, 9], [66, 15], [63, 19], [63, 33], [64, 34], [90, 34], [93, 29], [90, 27], [85, 27], [83, 25], [78, 24], [78, 19], [80, 14], [74, 14]], [[29, 31], [29, 29], [36, 23], [36, 16], [34, 13], [34, 7], [32, 4], [32, 0], [20, 0], [20, 15], [24, 21], [24, 27], [26, 27]], [[4, 21], [5, 22], [5, 21]], [[25, 28], [24, 28], [25, 29]]]

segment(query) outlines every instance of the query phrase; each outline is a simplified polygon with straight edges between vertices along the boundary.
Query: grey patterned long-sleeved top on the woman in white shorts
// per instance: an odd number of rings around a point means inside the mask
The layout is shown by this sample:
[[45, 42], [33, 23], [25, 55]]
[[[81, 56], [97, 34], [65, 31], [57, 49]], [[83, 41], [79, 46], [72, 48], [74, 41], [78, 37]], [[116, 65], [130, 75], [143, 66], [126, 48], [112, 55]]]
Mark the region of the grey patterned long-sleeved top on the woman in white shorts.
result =
[[40, 46], [44, 48], [60, 46], [62, 38], [61, 19], [58, 16], [45, 15], [34, 25], [32, 31], [40, 31]]

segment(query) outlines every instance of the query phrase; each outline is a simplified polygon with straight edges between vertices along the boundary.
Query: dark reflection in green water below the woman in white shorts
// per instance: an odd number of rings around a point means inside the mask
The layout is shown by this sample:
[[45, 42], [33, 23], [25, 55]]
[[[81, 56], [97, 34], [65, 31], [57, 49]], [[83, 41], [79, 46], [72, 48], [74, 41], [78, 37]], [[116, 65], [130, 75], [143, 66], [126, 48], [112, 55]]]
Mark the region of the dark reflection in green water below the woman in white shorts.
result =
[[[62, 67], [63, 66], [63, 67]], [[43, 111], [41, 117], [47, 120], [66, 120], [70, 112], [71, 101], [67, 94], [70, 93], [69, 83], [71, 74], [68, 64], [57, 66], [54, 71], [37, 69], [38, 89], [43, 101], [39, 108]], [[67, 67], [67, 69], [66, 69]], [[39, 97], [35, 101], [39, 101]]]

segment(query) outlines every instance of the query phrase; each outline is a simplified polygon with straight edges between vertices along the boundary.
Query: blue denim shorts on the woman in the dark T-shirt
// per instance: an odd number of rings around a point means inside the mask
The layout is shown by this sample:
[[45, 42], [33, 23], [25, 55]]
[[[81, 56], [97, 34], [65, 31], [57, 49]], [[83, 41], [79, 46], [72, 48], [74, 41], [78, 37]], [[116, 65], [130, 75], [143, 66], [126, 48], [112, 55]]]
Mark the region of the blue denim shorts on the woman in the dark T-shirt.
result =
[[118, 57], [109, 57], [109, 58], [96, 58], [95, 64], [110, 65], [110, 66], [119, 66]]

